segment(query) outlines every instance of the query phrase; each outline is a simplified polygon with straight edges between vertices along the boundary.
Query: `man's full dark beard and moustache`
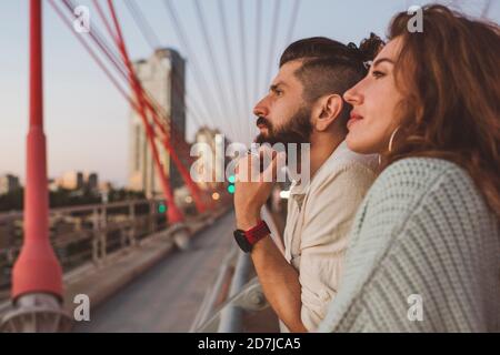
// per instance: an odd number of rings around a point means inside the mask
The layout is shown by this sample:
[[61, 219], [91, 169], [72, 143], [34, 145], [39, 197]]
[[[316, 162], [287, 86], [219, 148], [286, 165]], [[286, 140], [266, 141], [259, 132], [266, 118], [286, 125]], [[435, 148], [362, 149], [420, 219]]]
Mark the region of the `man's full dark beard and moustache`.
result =
[[266, 118], [259, 118], [257, 123], [266, 125], [268, 132], [267, 134], [260, 133], [256, 138], [256, 143], [269, 143], [271, 145], [297, 143], [300, 150], [301, 143], [311, 143], [312, 124], [310, 120], [311, 109], [307, 106], [299, 109], [287, 123], [276, 130]]

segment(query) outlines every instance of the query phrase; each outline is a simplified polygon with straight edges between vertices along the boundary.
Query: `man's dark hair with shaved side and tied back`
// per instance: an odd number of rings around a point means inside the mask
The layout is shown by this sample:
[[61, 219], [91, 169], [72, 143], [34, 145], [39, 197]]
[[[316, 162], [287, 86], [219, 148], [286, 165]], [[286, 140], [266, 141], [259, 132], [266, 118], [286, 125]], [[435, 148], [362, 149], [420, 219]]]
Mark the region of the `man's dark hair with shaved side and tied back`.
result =
[[[288, 62], [300, 60], [302, 65], [296, 71], [303, 84], [303, 99], [310, 104], [323, 95], [343, 95], [368, 72], [367, 62], [373, 60], [383, 45], [374, 33], [360, 48], [353, 43], [343, 44], [324, 37], [302, 39], [290, 44], [280, 59], [280, 68]], [[349, 119], [350, 105], [346, 104], [340, 124]]]

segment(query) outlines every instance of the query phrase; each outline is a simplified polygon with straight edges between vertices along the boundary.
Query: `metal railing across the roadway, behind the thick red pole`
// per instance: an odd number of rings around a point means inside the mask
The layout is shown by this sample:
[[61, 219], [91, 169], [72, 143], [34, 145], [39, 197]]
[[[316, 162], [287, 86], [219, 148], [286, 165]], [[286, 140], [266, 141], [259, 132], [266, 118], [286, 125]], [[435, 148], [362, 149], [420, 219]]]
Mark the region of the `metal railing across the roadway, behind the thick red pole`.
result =
[[[136, 200], [53, 209], [50, 239], [64, 273], [87, 263], [102, 265], [116, 252], [134, 247], [168, 227], [160, 200]], [[0, 290], [10, 286], [10, 272], [22, 243], [22, 212], [0, 214]]]

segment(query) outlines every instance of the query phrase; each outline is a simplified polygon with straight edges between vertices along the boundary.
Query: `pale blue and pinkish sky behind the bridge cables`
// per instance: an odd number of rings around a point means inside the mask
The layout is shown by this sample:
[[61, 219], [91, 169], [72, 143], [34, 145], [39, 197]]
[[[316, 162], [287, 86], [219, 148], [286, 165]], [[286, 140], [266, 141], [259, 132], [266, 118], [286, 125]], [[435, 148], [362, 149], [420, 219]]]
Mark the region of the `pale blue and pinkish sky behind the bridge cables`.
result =
[[[106, 1], [99, 1], [106, 7]], [[163, 0], [132, 1], [144, 13], [161, 45], [173, 48], [187, 58], [187, 139], [192, 141], [201, 124], [218, 128], [233, 141], [243, 143], [249, 143], [257, 134], [252, 106], [267, 91], [278, 70], [279, 55], [290, 41], [324, 36], [346, 43], [359, 43], [369, 32], [383, 37], [394, 13], [413, 4], [428, 3], [418, 0], [300, 0], [297, 21], [292, 26], [296, 0], [261, 0], [261, 36], [257, 41], [258, 0], [242, 0], [243, 40], [238, 8], [240, 0], [198, 0], [207, 23], [206, 32], [197, 17], [197, 0], [166, 0], [176, 9], [187, 33], [187, 41], [183, 42], [177, 37]], [[229, 57], [223, 41], [219, 1], [222, 1], [226, 11]], [[280, 8], [274, 22], [276, 1], [280, 1]], [[91, 1], [74, 2], [88, 6], [91, 27], [102, 29]], [[131, 58], [149, 57], [151, 48], [136, 27], [123, 0], [114, 2]], [[488, 1], [440, 2], [479, 16]], [[28, 129], [28, 0], [0, 1], [0, 174], [13, 173], [21, 176], [21, 181], [26, 169]], [[100, 180], [124, 185], [130, 108], [74, 34], [56, 16], [48, 0], [43, 0], [43, 11], [44, 131], [49, 176], [56, 178], [70, 170], [93, 171], [99, 173]], [[500, 22], [500, 1], [492, 1], [488, 18]], [[274, 27], [277, 32], [272, 36]], [[291, 28], [293, 31], [289, 38]], [[214, 53], [223, 94], [217, 90], [217, 70], [211, 64], [203, 33]], [[246, 43], [244, 50], [241, 43]], [[228, 59], [232, 61], [234, 72], [229, 70]], [[243, 62], [247, 64], [244, 70]], [[199, 72], [193, 70], [194, 67]], [[231, 75], [236, 81], [236, 91], [231, 85]], [[238, 111], [233, 109], [234, 102], [238, 103]]]

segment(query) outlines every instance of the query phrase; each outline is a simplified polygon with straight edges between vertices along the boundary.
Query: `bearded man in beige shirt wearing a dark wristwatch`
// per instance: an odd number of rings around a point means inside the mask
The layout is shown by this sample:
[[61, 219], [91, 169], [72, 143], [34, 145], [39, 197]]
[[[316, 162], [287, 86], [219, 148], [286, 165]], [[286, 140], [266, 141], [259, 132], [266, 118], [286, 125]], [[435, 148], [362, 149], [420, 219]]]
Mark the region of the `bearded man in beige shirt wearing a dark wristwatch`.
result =
[[[324, 317], [338, 291], [352, 220], [376, 179], [377, 158], [347, 148], [351, 108], [342, 95], [367, 74], [381, 44], [374, 34], [360, 49], [327, 38], [294, 42], [254, 108], [257, 143], [310, 143], [311, 179], [293, 181], [290, 190], [284, 258], [260, 219], [273, 183], [241, 176], [241, 166], [251, 169], [251, 154], [237, 169], [234, 237], [251, 252], [266, 297], [291, 332], [313, 331]], [[276, 175], [273, 156], [268, 170]]]

